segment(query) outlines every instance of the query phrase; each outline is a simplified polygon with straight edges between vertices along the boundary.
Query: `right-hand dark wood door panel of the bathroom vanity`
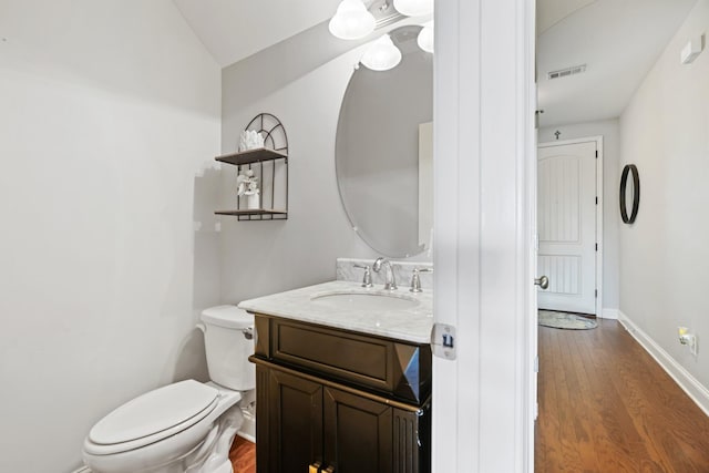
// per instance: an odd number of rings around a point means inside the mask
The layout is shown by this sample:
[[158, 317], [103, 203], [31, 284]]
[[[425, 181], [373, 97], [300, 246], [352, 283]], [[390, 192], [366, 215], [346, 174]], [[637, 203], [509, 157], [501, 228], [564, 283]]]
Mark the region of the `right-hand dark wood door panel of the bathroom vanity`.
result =
[[392, 471], [392, 409], [325, 388], [325, 466], [337, 473]]

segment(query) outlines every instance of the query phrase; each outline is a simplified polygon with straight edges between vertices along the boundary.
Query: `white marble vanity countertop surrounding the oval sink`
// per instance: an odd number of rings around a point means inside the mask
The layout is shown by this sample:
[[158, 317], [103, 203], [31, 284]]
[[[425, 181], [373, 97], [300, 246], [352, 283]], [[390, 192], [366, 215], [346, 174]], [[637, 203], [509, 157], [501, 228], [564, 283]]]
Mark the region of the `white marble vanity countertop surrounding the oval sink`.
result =
[[[312, 298], [327, 294], [381, 294], [415, 300], [414, 307], [395, 310], [332, 308]], [[377, 335], [397, 340], [429, 343], [433, 326], [433, 296], [430, 290], [410, 292], [408, 287], [384, 291], [381, 286], [366, 289], [359, 282], [330, 281], [286, 292], [245, 300], [239, 308], [249, 312]]]

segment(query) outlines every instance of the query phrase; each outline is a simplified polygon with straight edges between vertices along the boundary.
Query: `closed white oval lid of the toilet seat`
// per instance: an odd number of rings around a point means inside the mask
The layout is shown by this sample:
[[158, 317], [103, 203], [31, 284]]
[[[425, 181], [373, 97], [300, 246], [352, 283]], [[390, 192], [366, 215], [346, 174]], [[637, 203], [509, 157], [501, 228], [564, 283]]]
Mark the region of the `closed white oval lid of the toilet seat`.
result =
[[112, 445], [160, 432], [174, 434], [172, 428], [184, 424], [182, 431], [204, 419], [216, 405], [218, 395], [215, 388], [195, 380], [165, 385], [126, 402], [101, 419], [89, 432], [89, 440], [94, 444]]

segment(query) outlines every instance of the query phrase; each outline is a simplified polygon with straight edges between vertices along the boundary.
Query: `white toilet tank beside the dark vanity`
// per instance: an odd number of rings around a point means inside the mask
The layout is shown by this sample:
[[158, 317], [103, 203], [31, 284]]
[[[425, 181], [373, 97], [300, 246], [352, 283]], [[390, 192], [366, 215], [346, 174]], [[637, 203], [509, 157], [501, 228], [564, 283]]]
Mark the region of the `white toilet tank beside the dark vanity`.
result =
[[236, 306], [218, 306], [202, 312], [204, 347], [212, 381], [235, 391], [256, 388], [254, 316]]

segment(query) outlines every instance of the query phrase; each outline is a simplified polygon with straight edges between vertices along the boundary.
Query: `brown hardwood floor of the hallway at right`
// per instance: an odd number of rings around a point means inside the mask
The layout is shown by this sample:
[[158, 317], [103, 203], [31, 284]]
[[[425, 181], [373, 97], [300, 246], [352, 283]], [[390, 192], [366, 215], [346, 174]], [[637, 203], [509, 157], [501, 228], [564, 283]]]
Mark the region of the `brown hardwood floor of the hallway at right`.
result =
[[615, 320], [540, 327], [535, 472], [709, 472], [709, 418]]

